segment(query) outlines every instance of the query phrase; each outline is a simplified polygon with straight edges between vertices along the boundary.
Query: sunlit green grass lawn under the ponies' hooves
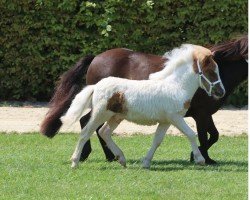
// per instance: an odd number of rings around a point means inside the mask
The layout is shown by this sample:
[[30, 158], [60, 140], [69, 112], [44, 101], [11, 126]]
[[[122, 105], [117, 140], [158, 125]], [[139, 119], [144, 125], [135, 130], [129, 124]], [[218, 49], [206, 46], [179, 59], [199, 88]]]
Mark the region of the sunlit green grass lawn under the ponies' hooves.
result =
[[217, 166], [189, 163], [185, 137], [166, 136], [150, 170], [141, 158], [153, 136], [118, 137], [127, 168], [104, 160], [97, 137], [79, 168], [69, 158], [78, 135], [0, 134], [0, 199], [247, 199], [247, 137], [221, 137], [210, 155]]

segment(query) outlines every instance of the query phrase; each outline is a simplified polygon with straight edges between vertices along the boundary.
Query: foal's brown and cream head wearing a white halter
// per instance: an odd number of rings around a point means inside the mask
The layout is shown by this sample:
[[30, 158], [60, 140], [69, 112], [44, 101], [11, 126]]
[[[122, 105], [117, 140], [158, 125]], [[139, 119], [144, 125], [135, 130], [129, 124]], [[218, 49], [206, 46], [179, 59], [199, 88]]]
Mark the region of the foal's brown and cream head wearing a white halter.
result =
[[213, 59], [213, 54], [209, 49], [201, 46], [194, 46], [194, 71], [199, 74], [200, 87], [209, 96], [222, 98], [225, 95], [225, 88], [219, 75], [219, 68]]

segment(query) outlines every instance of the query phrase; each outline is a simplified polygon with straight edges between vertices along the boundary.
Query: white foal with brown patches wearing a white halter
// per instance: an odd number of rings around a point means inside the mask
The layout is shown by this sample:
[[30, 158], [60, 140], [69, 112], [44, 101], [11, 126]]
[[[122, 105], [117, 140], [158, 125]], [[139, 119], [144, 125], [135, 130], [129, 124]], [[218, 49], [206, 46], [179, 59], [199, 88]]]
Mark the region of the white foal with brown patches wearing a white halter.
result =
[[167, 66], [154, 74], [153, 80], [127, 80], [109, 77], [96, 85], [84, 88], [73, 100], [62, 122], [75, 122], [82, 113], [91, 111], [91, 118], [82, 129], [80, 140], [72, 156], [72, 167], [76, 167], [81, 150], [93, 132], [104, 122], [100, 136], [107, 143], [121, 165], [126, 166], [123, 152], [114, 143], [111, 133], [126, 119], [138, 124], [159, 123], [151, 149], [143, 160], [143, 167], [149, 168], [154, 152], [160, 145], [171, 124], [189, 139], [195, 162], [204, 164], [195, 141], [195, 133], [185, 123], [190, 101], [202, 87], [216, 98], [225, 94], [219, 77], [218, 66], [210, 50], [195, 45], [183, 45], [168, 55]]

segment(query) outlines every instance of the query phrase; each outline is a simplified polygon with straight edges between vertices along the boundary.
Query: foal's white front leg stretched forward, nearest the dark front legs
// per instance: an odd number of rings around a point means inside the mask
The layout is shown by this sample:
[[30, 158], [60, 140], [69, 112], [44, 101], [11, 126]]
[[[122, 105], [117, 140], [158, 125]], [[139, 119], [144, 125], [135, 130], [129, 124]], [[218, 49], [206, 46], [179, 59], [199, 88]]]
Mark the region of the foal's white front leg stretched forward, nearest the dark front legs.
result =
[[181, 132], [183, 132], [189, 139], [193, 154], [194, 154], [194, 161], [197, 164], [205, 164], [205, 159], [201, 155], [201, 152], [198, 148], [198, 145], [196, 143], [196, 136], [194, 131], [186, 124], [183, 117], [181, 116], [173, 116], [171, 118], [172, 124], [178, 128]]

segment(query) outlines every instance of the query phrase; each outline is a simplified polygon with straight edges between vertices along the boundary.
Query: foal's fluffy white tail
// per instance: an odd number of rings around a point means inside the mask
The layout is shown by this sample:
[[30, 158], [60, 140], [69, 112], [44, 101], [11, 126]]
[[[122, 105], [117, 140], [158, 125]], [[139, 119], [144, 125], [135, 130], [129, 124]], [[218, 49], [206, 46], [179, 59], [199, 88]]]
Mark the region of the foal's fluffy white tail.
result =
[[86, 86], [80, 93], [76, 95], [67, 113], [61, 117], [63, 124], [72, 125], [80, 119], [82, 115], [86, 115], [91, 110], [92, 95], [95, 85]]

